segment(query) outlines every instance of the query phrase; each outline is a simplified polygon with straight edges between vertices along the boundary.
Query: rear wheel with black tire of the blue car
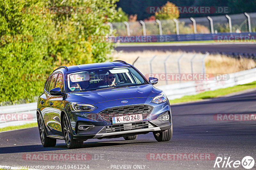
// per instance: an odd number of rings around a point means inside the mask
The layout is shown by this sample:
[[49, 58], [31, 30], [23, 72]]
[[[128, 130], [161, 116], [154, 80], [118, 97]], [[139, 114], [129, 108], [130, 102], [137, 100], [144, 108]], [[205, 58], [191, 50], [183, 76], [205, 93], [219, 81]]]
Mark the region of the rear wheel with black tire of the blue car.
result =
[[41, 115], [38, 120], [38, 129], [41, 143], [44, 147], [53, 147], [56, 145], [56, 139], [52, 139], [46, 136], [44, 121]]

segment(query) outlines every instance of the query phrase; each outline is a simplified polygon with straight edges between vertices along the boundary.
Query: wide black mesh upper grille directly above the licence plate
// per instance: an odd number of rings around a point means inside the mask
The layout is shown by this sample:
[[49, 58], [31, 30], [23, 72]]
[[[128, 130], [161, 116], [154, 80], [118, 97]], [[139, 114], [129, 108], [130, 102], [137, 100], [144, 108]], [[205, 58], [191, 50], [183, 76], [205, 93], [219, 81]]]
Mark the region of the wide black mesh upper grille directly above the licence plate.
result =
[[153, 110], [153, 107], [146, 104], [130, 105], [130, 106], [109, 108], [101, 111], [99, 115], [107, 122], [111, 122], [112, 117], [136, 115], [136, 114], [142, 114], [142, 118], [145, 119], [146, 117], [148, 117], [148, 115], [151, 113], [152, 110]]

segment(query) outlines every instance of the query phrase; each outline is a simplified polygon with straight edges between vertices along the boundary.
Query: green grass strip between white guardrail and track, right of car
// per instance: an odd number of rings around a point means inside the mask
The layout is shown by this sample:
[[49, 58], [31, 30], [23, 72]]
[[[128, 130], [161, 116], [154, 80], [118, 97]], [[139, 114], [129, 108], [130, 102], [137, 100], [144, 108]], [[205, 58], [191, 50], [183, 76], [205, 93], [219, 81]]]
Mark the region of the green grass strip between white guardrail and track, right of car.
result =
[[202, 100], [202, 99], [210, 99], [210, 98], [219, 97], [219, 96], [227, 95], [233, 92], [238, 92], [241, 90], [252, 89], [252, 88], [256, 88], [256, 81], [253, 81], [247, 84], [228, 87], [224, 89], [206, 91], [203, 93], [199, 93], [197, 95], [183, 96], [179, 99], [170, 100], [170, 103], [180, 103], [180, 102], [190, 102], [190, 101], [196, 101], [196, 100]]

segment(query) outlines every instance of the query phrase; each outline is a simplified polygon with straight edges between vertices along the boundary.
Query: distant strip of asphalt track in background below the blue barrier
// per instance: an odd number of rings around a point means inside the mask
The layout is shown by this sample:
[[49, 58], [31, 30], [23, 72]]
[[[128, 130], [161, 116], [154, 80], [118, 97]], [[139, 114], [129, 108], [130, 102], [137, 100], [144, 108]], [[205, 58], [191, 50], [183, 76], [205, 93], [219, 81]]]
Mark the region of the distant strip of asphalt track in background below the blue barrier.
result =
[[159, 51], [186, 51], [186, 52], [227, 52], [227, 53], [255, 53], [256, 44], [211, 44], [211, 43], [185, 43], [180, 45], [178, 43], [174, 44], [146, 44], [146, 45], [122, 45], [116, 47], [116, 51], [123, 50], [124, 52], [133, 51], [144, 51], [144, 50], [159, 50]]

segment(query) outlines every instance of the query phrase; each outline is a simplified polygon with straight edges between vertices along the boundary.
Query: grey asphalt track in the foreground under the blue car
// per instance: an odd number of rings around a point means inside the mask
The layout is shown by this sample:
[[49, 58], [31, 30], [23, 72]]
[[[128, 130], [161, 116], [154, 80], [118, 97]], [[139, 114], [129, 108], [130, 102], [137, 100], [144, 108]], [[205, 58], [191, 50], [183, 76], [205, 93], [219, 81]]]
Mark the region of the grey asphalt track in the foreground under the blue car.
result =
[[[89, 165], [90, 169], [114, 169], [113, 165], [142, 165], [137, 169], [244, 169], [213, 168], [217, 156], [240, 160], [256, 158], [255, 121], [216, 121], [214, 114], [255, 114], [256, 91], [218, 98], [211, 101], [172, 106], [173, 137], [169, 142], [156, 142], [152, 133], [138, 135], [132, 141], [123, 138], [89, 139], [81, 149], [67, 149], [57, 140], [55, 147], [41, 145], [38, 128], [0, 133], [0, 165]], [[8, 139], [8, 141], [7, 141]], [[90, 160], [27, 160], [28, 154], [91, 154]], [[149, 153], [209, 153], [212, 160], [148, 160]], [[216, 157], [215, 157], [216, 156]], [[156, 158], [156, 157], [155, 157]], [[166, 158], [166, 157], [163, 157]], [[153, 159], [153, 158], [151, 158]], [[255, 161], [256, 162], [256, 161]], [[111, 168], [112, 165], [112, 168]], [[143, 166], [144, 165], [144, 166]], [[220, 166], [222, 163], [220, 164]], [[231, 164], [232, 166], [232, 164]], [[81, 167], [81, 166], [80, 166]], [[119, 166], [116, 166], [119, 167]], [[252, 169], [255, 169], [255, 165]]]

